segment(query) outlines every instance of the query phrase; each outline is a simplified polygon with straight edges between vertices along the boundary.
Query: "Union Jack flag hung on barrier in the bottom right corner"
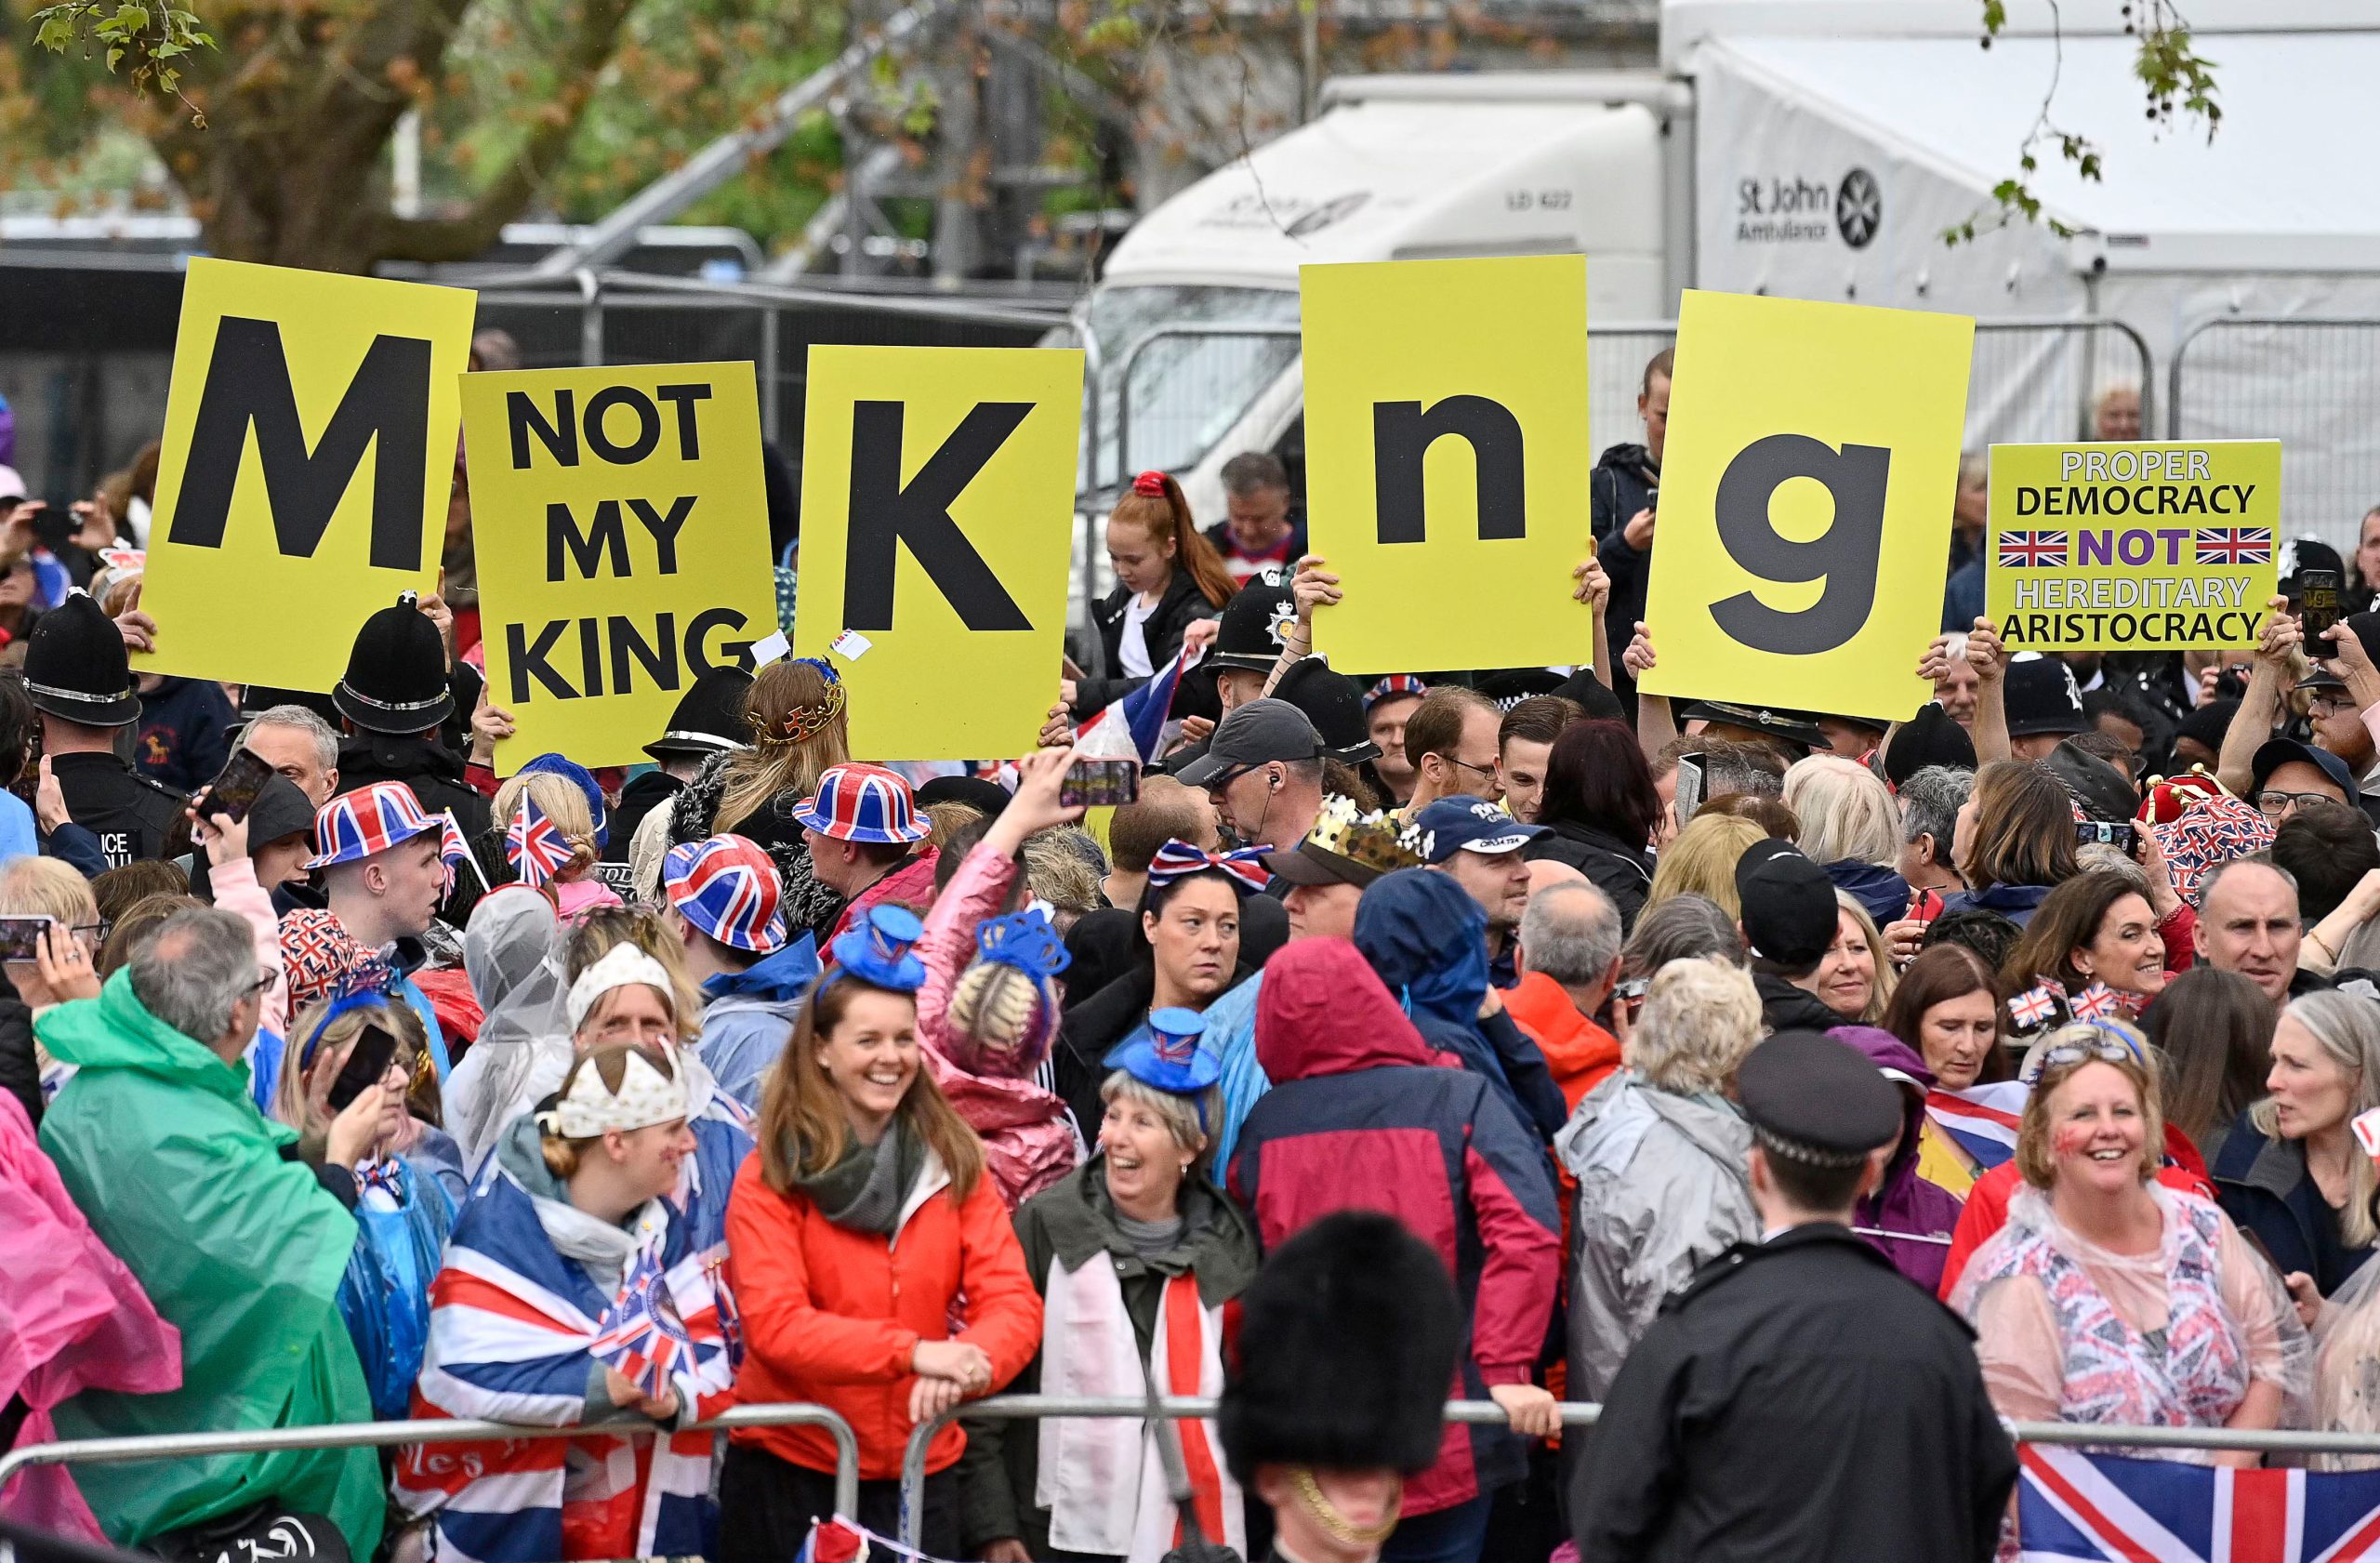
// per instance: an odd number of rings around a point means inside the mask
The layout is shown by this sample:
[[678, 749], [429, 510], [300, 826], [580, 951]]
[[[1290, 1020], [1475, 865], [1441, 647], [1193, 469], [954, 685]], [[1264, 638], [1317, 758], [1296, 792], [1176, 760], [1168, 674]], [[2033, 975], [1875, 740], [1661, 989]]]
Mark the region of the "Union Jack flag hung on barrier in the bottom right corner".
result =
[[2380, 1473], [2230, 1470], [2025, 1444], [2028, 1563], [2356, 1563], [2380, 1558]]

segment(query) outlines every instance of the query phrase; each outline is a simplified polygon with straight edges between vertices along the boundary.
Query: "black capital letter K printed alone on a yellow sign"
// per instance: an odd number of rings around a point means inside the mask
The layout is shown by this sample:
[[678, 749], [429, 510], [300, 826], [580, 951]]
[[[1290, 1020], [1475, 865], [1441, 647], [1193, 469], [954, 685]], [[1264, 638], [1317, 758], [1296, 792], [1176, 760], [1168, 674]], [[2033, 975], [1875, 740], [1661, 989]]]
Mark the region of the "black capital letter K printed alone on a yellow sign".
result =
[[892, 628], [892, 578], [900, 545], [926, 569], [971, 630], [1031, 630], [1016, 600], [950, 519], [976, 473], [1033, 412], [1033, 402], [976, 402], [959, 426], [902, 485], [904, 402], [852, 404], [850, 545], [843, 571], [843, 628]]

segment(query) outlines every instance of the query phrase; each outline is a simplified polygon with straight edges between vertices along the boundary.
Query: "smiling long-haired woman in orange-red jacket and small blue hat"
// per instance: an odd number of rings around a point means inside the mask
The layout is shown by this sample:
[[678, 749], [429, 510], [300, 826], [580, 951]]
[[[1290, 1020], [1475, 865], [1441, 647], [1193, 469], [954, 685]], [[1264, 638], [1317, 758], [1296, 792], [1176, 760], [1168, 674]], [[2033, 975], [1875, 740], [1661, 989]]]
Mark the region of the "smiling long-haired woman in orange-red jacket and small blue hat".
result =
[[[923, 1068], [914, 954], [923, 925], [876, 906], [833, 942], [759, 1104], [759, 1154], [728, 1197], [728, 1273], [745, 1316], [735, 1394], [814, 1401], [859, 1435], [859, 1523], [900, 1525], [909, 1435], [990, 1394], [1040, 1347], [1040, 1294], [983, 1144]], [[957, 1299], [966, 1327], [950, 1335]], [[833, 1513], [835, 1446], [816, 1427], [731, 1435], [719, 1563], [783, 1563]], [[959, 1549], [957, 1461], [926, 1451], [921, 1544]]]

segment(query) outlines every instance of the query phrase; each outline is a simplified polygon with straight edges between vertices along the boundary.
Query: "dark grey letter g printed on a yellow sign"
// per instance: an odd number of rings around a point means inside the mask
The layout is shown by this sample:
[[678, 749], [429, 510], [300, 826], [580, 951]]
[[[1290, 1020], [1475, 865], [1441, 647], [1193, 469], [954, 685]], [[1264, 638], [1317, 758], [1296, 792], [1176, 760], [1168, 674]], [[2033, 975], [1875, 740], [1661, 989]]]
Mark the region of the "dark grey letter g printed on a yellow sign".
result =
[[[1847, 645], [1875, 609], [1875, 554], [1885, 540], [1885, 488], [1892, 452], [1809, 435], [1766, 435], [1745, 445], [1718, 478], [1718, 542], [1761, 580], [1825, 580], [1818, 602], [1785, 614], [1752, 592], [1711, 604], [1711, 619], [1735, 640], [1785, 657]], [[1768, 519], [1768, 502], [1790, 478], [1816, 478], [1835, 495], [1825, 533], [1795, 542]]]

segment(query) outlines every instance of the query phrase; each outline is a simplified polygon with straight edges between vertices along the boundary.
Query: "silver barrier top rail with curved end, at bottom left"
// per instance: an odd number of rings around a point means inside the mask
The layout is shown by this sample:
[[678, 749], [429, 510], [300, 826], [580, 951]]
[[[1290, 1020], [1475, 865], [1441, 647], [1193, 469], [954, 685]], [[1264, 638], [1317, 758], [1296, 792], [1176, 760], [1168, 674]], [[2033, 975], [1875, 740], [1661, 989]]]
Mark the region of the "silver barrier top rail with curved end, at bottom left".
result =
[[[859, 1437], [826, 1406], [733, 1406], [707, 1423], [676, 1432], [728, 1432], [733, 1427], [826, 1427], [835, 1439], [835, 1511], [859, 1513]], [[271, 1454], [278, 1449], [386, 1449], [390, 1444], [500, 1444], [512, 1439], [566, 1439], [635, 1432], [614, 1423], [576, 1427], [516, 1427], [512, 1423], [331, 1423], [324, 1427], [252, 1427], [243, 1432], [152, 1432], [124, 1439], [67, 1439], [26, 1444], [0, 1454], [0, 1489], [31, 1465], [126, 1465], [178, 1461], [202, 1454]], [[923, 1458], [923, 1456], [919, 1456]]]

